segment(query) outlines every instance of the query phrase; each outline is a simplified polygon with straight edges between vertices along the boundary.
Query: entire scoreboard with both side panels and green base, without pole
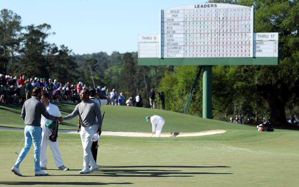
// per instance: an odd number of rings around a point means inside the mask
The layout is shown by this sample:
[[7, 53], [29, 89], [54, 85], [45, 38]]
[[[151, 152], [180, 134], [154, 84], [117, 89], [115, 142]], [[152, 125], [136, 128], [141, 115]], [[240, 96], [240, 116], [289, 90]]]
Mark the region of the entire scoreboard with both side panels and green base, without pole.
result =
[[160, 10], [160, 34], [138, 36], [138, 64], [277, 65], [278, 33], [253, 31], [253, 7], [207, 3]]

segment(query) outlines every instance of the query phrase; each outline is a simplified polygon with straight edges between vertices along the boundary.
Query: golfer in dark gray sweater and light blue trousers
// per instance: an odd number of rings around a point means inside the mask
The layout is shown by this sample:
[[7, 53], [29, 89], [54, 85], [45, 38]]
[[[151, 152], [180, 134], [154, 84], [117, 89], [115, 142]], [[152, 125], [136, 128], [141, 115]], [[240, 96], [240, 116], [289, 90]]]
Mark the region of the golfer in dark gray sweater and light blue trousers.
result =
[[24, 160], [28, 151], [31, 148], [31, 144], [34, 146], [34, 162], [35, 162], [35, 175], [48, 175], [47, 172], [40, 170], [40, 143], [41, 143], [41, 132], [42, 128], [40, 127], [40, 118], [43, 115], [45, 118], [50, 120], [59, 120], [63, 121], [63, 118], [50, 115], [46, 108], [45, 104], [40, 101], [42, 96], [42, 89], [36, 87], [32, 91], [32, 98], [25, 101], [21, 117], [25, 122], [24, 134], [25, 134], [25, 146], [20, 152], [20, 155], [15, 163], [12, 166], [12, 172], [14, 174], [22, 176], [19, 166]]

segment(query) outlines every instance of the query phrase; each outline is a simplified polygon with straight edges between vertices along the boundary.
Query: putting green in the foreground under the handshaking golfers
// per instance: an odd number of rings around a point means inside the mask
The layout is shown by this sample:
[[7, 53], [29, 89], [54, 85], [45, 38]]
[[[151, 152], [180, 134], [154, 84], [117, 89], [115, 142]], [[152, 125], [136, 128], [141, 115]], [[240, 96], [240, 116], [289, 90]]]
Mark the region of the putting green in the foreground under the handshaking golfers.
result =
[[[228, 130], [202, 137], [101, 136], [100, 169], [80, 175], [79, 134], [59, 134], [59, 149], [69, 171], [57, 170], [48, 148], [49, 176], [34, 176], [33, 151], [11, 167], [22, 131], [0, 130], [0, 185], [35, 186], [298, 186], [298, 132]], [[20, 150], [18, 151], [20, 152]]]

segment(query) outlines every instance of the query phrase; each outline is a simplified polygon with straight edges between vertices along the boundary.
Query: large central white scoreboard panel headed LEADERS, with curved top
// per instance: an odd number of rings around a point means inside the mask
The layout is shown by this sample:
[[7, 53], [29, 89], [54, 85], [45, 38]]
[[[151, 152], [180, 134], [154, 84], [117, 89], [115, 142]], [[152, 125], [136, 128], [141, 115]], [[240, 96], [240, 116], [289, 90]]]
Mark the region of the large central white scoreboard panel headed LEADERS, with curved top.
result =
[[253, 9], [221, 3], [161, 10], [161, 58], [253, 56]]

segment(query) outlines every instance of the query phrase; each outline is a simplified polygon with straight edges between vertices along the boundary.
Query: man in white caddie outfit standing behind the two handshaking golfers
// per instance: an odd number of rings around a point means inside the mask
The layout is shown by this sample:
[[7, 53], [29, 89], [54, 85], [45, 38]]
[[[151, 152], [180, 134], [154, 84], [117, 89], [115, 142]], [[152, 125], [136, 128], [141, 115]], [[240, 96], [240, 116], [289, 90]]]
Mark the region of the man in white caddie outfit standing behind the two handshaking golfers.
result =
[[[54, 115], [54, 116], [57, 116], [57, 115], [61, 116], [59, 108], [56, 105], [51, 104], [49, 102], [49, 94], [48, 93], [44, 92], [43, 95], [41, 96], [40, 101], [45, 104], [46, 110], [48, 111], [49, 114]], [[55, 161], [56, 166], [58, 167], [58, 170], [69, 170], [69, 168], [64, 166], [64, 163], [62, 161], [61, 154], [60, 154], [60, 151], [58, 148], [58, 138], [54, 142], [49, 140], [49, 136], [52, 133], [52, 129], [49, 129], [48, 127], [45, 126], [45, 124], [47, 122], [51, 122], [51, 120], [46, 119], [44, 116], [42, 116], [41, 120], [40, 120], [40, 125], [42, 128], [42, 132], [41, 132], [42, 139], [41, 139], [41, 145], [40, 145], [40, 168], [42, 170], [47, 169], [47, 162], [48, 162], [47, 142], [49, 142], [49, 146], [50, 146], [50, 149], [54, 156], [54, 161]]]

